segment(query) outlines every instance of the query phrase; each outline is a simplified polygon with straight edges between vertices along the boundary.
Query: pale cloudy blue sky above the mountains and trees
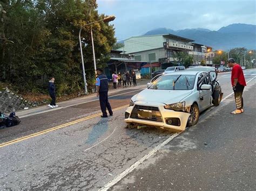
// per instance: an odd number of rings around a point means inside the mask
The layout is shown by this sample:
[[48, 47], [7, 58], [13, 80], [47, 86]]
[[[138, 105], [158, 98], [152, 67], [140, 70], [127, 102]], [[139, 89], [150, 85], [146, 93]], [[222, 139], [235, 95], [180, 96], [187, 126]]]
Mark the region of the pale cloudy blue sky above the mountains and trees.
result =
[[256, 24], [256, 0], [97, 0], [98, 12], [114, 15], [117, 40], [157, 28], [219, 30]]

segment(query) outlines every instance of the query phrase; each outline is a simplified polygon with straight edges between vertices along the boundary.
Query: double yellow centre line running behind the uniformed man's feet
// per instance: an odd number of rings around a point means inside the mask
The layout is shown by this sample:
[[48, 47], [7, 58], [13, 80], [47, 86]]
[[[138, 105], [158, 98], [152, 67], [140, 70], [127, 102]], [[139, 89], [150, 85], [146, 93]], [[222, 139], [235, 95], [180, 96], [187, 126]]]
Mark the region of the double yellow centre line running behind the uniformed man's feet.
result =
[[[121, 110], [122, 108], [125, 108], [125, 107], [128, 107], [128, 106], [129, 106], [129, 105], [124, 105], [124, 106], [121, 106], [121, 107], [117, 107], [117, 108], [114, 108], [113, 111]], [[98, 116], [100, 116], [101, 114], [102, 114], [102, 113], [97, 113], [97, 114], [91, 115], [91, 116], [89, 116], [89, 117], [85, 117], [85, 118], [82, 118], [82, 119], [78, 119], [78, 120], [75, 120], [75, 121], [68, 122], [68, 123], [63, 124], [63, 125], [58, 125], [58, 126], [56, 126], [56, 127], [52, 127], [52, 128], [49, 128], [49, 129], [45, 129], [44, 131], [40, 131], [40, 132], [37, 132], [37, 133], [33, 133], [33, 134], [27, 135], [27, 136], [22, 137], [22, 138], [18, 138], [18, 139], [14, 139], [14, 140], [11, 140], [11, 141], [8, 141], [8, 142], [4, 142], [4, 143], [0, 144], [0, 148], [1, 148], [1, 147], [8, 146], [8, 145], [11, 145], [11, 144], [15, 144], [16, 142], [24, 141], [24, 140], [26, 140], [26, 139], [30, 139], [30, 138], [33, 138], [33, 137], [37, 137], [37, 136], [42, 135], [42, 134], [45, 134], [45, 133], [49, 133], [49, 132], [52, 132], [52, 131], [56, 131], [57, 129], [60, 129], [60, 128], [63, 128], [63, 127], [67, 127], [67, 126], [70, 126], [70, 125], [74, 125], [74, 124], [77, 124], [78, 122], [82, 122], [82, 121], [86, 121], [86, 120], [89, 120], [89, 119], [98, 117]]]

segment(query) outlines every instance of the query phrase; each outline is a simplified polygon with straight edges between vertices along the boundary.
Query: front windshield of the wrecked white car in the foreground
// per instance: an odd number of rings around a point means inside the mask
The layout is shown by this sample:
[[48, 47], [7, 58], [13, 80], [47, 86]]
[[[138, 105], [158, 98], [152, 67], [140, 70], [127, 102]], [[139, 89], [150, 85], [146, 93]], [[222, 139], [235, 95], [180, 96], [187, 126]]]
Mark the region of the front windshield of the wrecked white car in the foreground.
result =
[[[177, 80], [178, 78], [178, 80]], [[166, 75], [161, 76], [156, 81], [152, 83], [149, 89], [153, 90], [173, 90], [173, 83], [175, 80], [176, 83], [174, 84], [174, 90], [192, 90], [194, 87], [194, 80], [195, 75], [187, 75], [187, 74], [177, 74], [177, 75]]]

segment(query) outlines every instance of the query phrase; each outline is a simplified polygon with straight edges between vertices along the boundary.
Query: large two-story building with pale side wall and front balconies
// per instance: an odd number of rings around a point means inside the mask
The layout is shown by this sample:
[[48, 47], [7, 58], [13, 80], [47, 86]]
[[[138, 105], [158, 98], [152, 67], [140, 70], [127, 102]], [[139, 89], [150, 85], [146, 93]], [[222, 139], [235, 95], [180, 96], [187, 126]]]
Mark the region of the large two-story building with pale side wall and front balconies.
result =
[[155, 71], [173, 64], [177, 52], [193, 50], [193, 41], [171, 34], [137, 36], [124, 40], [124, 47], [118, 50], [133, 55], [135, 60], [152, 63]]

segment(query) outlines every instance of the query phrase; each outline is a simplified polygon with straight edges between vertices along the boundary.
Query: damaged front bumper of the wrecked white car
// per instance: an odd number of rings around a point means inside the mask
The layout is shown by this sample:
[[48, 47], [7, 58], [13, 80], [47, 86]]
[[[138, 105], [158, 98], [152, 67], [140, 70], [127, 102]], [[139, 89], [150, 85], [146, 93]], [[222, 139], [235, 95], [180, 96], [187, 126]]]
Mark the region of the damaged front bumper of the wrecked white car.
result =
[[[140, 106], [154, 106], [158, 107], [160, 115], [161, 115], [161, 121], [153, 121], [153, 120], [147, 120], [146, 116], [144, 119], [138, 119], [134, 118], [131, 116], [131, 113], [133, 111], [134, 106], [130, 106], [127, 108], [126, 112], [126, 119], [125, 122], [127, 123], [133, 123], [133, 124], [143, 124], [143, 125], [148, 125], [148, 126], [156, 126], [156, 127], [162, 127], [162, 128], [168, 128], [168, 129], [173, 129], [175, 131], [184, 131], [187, 125], [187, 120], [190, 117], [190, 113], [186, 112], [177, 112], [173, 110], [166, 110], [164, 108], [164, 104], [159, 106], [159, 103], [142, 103], [140, 102], [139, 104], [136, 103], [136, 105]], [[179, 124], [177, 125], [169, 125], [167, 124], [168, 119], [179, 119]]]

